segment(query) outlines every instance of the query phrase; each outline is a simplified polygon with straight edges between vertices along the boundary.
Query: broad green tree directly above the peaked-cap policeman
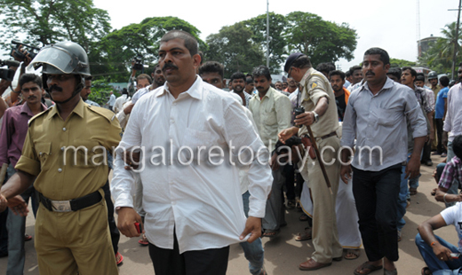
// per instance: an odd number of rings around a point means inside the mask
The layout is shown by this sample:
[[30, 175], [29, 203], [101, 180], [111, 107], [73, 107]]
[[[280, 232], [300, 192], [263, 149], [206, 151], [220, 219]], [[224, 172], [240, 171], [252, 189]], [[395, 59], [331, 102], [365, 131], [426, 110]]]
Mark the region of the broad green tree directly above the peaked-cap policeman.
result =
[[312, 64], [351, 60], [356, 49], [356, 31], [348, 24], [324, 21], [309, 12], [291, 12], [285, 32], [289, 51], [305, 53]]

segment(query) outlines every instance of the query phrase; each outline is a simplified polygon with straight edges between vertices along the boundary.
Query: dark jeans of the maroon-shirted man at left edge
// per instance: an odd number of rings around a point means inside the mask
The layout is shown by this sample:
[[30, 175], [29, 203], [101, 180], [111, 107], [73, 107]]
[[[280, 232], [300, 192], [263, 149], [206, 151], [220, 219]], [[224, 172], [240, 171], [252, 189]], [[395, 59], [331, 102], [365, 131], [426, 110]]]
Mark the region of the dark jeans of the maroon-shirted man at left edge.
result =
[[[10, 165], [7, 170], [7, 177], [10, 178], [16, 174], [16, 170]], [[21, 193], [22, 199], [28, 203], [32, 199], [32, 208], [36, 214], [37, 201], [36, 189], [29, 186], [28, 189]], [[14, 215], [10, 209], [6, 220], [8, 228], [8, 263], [7, 275], [22, 275], [24, 273], [24, 263], [26, 261], [26, 249], [24, 248], [24, 234], [26, 233], [26, 216]]]

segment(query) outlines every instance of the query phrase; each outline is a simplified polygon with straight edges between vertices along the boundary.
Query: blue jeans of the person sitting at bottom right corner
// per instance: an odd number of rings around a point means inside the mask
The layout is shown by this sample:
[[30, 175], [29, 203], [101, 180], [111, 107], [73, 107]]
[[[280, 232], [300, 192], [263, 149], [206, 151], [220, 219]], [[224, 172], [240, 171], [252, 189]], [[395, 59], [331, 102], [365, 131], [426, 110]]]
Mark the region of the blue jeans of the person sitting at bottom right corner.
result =
[[[442, 246], [450, 248], [450, 251], [454, 253], [458, 253], [458, 248], [456, 248], [446, 240], [443, 240], [439, 236], [434, 235], [434, 237], [436, 237], [436, 240], [438, 240], [438, 242], [442, 244]], [[428, 266], [428, 268], [430, 269], [430, 271], [433, 272], [433, 274], [458, 274], [460, 267], [462, 267], [462, 257], [447, 262], [443, 262], [442, 260], [436, 258], [436, 255], [434, 255], [433, 248], [431, 248], [425, 242], [425, 240], [422, 239], [419, 233], [416, 236], [416, 246], [418, 248], [418, 252], [420, 252], [420, 255], [422, 255], [422, 258], [424, 259], [426, 266]]]

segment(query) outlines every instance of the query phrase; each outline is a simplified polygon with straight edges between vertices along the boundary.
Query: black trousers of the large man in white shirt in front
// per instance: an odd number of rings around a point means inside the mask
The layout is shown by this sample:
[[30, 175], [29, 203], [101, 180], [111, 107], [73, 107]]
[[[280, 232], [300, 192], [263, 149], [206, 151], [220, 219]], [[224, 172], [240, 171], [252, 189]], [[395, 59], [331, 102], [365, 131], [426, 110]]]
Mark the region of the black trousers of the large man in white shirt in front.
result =
[[177, 236], [173, 249], [157, 248], [149, 243], [149, 256], [155, 275], [225, 275], [229, 247], [187, 251], [179, 254]]

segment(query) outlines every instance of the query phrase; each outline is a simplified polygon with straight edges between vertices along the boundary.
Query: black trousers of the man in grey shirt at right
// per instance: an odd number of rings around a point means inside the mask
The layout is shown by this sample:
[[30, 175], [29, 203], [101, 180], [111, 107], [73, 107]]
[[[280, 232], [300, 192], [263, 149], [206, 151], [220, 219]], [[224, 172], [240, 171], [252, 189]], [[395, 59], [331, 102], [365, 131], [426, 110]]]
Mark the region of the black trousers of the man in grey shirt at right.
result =
[[362, 244], [369, 261], [398, 260], [397, 201], [402, 165], [380, 171], [353, 168], [353, 194]]

